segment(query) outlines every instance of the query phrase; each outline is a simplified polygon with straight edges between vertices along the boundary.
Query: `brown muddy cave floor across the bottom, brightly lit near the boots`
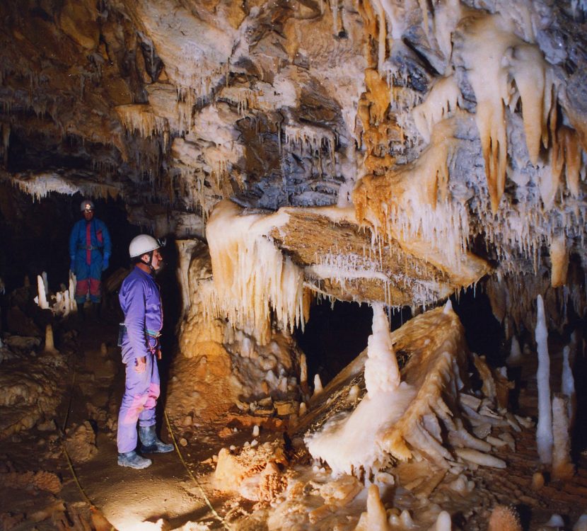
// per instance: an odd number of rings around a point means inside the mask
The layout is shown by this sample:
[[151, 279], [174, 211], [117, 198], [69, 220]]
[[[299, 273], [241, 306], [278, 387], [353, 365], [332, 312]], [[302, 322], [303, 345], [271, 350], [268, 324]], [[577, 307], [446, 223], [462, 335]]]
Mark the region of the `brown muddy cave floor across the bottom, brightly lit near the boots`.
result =
[[[219, 450], [252, 440], [251, 430], [239, 430], [226, 438], [226, 423], [199, 426], [195, 437], [187, 445], [180, 445], [185, 464], [197, 478], [197, 483], [176, 452], [155, 455], [151, 467], [140, 471], [117, 466], [112, 422], [116, 420], [124, 389], [124, 371], [120, 350], [115, 346], [117, 326], [114, 319], [114, 316], [106, 316], [100, 322], [70, 319], [64, 324], [65, 328], [77, 333], [71, 334], [75, 347], [70, 354], [69, 371], [62, 373], [60, 382], [55, 382], [66, 388], [55, 423], [60, 427], [65, 424], [69, 429], [88, 421], [93, 416], [92, 411], [106, 412], [105, 416], [91, 421], [97, 451], [94, 450], [95, 454], [86, 462], [74, 464], [79, 485], [61, 450], [59, 428], [48, 431], [32, 428], [4, 440], [0, 445], [0, 530], [99, 530], [100, 518], [96, 518], [95, 513], [92, 518], [88, 501], [121, 531], [139, 529], [141, 523], [156, 523], [161, 518], [163, 530], [181, 528], [190, 522], [206, 524], [210, 529], [223, 528], [209, 510], [202, 489], [221, 518], [231, 520], [231, 527], [266, 529], [263, 518], [258, 516], [262, 511], [257, 511], [257, 515], [251, 518], [247, 516], [253, 512], [254, 502], [215, 490], [212, 485], [214, 459]], [[520, 387], [516, 413], [535, 418], [535, 367], [524, 367]], [[161, 429], [161, 438], [170, 442], [165, 421], [161, 422], [164, 400], [163, 390], [158, 407], [158, 428]], [[219, 433], [223, 428], [221, 437]], [[174, 426], [173, 429], [179, 441], [181, 428]], [[449, 506], [444, 503], [443, 509], [451, 512], [453, 525], [462, 530], [487, 529], [489, 513], [497, 503], [516, 506], [525, 530], [540, 529], [553, 513], [563, 515], [565, 529], [571, 529], [579, 516], [587, 511], [587, 452], [575, 456], [576, 473], [572, 479], [547, 481], [537, 491], [532, 488], [533, 474], [539, 468], [534, 428], [522, 428], [521, 433], [513, 435], [516, 452], [505, 447], [496, 453], [496, 457], [506, 460], [508, 468], [479, 467], [475, 472], [467, 472], [467, 477], [475, 481], [475, 490], [461, 498], [452, 496]], [[262, 430], [258, 439], [264, 442], [272, 437], [274, 434]], [[297, 464], [302, 469], [310, 469], [307, 455]], [[296, 462], [291, 463], [291, 467], [294, 466]], [[57, 474], [62, 480], [61, 489], [54, 489], [51, 493], [22, 481], [11, 481], [10, 472], [18, 472], [22, 477], [25, 472], [39, 471]], [[404, 496], [405, 506], [414, 515], [418, 507], [422, 507], [422, 502], [409, 494], [407, 492]], [[434, 493], [426, 503], [434, 503]], [[102, 528], [110, 529], [110, 526], [104, 524]], [[153, 526], [155, 528], [160, 527]]]

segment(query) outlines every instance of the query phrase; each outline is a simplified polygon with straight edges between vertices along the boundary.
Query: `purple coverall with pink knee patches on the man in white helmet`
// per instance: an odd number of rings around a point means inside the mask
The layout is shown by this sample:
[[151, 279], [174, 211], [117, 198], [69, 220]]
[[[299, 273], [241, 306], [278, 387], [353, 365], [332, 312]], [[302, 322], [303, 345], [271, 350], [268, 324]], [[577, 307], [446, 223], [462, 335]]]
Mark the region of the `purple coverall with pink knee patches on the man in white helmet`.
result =
[[[118, 414], [119, 453], [136, 449], [136, 421], [142, 427], [155, 424], [159, 396], [158, 337], [163, 327], [159, 288], [153, 277], [138, 267], [124, 279], [118, 295], [126, 331], [122, 336], [122, 362], [127, 377]], [[146, 370], [136, 372], [136, 358], [146, 358]]]

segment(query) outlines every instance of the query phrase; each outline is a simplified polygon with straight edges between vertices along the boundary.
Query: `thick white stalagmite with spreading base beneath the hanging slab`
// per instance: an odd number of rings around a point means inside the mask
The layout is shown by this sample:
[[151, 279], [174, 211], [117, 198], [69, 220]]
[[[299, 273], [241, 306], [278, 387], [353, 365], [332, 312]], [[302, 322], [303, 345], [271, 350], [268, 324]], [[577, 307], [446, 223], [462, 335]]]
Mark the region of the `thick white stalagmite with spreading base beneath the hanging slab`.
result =
[[334, 476], [377, 472], [387, 462], [380, 446], [380, 433], [405, 412], [415, 391], [400, 382], [383, 304], [373, 305], [373, 333], [368, 338], [365, 363], [367, 394], [344, 418], [333, 418], [318, 433], [306, 435], [306, 445], [315, 459], [322, 459]]

